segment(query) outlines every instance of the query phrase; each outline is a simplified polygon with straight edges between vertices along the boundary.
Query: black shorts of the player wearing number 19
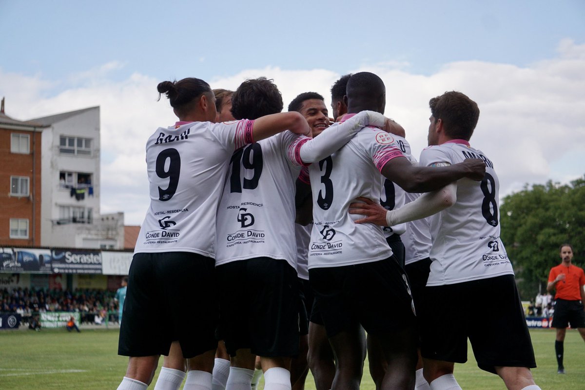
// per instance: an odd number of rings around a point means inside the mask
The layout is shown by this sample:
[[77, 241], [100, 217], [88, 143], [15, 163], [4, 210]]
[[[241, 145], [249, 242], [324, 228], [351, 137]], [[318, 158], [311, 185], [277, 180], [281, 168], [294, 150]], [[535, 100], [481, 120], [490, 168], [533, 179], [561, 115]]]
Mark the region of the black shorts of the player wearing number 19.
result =
[[264, 357], [298, 355], [297, 271], [269, 257], [219, 265], [221, 323], [230, 356], [250, 348]]

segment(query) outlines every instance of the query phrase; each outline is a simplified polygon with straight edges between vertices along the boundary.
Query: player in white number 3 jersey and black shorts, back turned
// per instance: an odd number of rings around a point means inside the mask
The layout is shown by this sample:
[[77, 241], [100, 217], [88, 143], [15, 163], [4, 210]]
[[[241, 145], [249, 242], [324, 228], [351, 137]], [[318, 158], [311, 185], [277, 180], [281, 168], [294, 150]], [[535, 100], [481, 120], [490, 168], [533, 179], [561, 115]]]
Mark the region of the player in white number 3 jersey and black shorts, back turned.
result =
[[[382, 113], [386, 88], [376, 75], [357, 73], [347, 83], [346, 101], [350, 114], [344, 120], [364, 109]], [[314, 204], [309, 281], [338, 363], [333, 390], [359, 388], [360, 325], [384, 351], [384, 389], [410, 388], [417, 363], [406, 277], [381, 227], [354, 223], [349, 204], [364, 195], [380, 198], [380, 172], [407, 191], [425, 192], [466, 176], [481, 180], [484, 170], [477, 159], [444, 168], [415, 167], [403, 157], [394, 136], [376, 127], [364, 127], [341, 149], [309, 167]], [[379, 296], [393, 304], [379, 305]]]

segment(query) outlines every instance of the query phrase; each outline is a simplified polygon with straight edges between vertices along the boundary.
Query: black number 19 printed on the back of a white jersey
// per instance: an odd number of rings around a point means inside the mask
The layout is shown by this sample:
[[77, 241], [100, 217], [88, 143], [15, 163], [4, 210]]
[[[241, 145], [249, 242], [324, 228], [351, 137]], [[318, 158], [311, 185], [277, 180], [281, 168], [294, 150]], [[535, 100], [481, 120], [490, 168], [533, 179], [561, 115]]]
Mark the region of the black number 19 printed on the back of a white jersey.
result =
[[251, 179], [244, 177], [243, 187], [245, 189], [254, 189], [258, 187], [263, 165], [262, 148], [260, 147], [260, 144], [250, 144], [245, 148], [236, 150], [235, 153], [232, 154], [232, 158], [229, 160], [229, 163], [232, 164], [232, 175], [229, 177], [229, 192], [242, 192], [240, 161], [242, 161], [244, 168], [254, 171]]

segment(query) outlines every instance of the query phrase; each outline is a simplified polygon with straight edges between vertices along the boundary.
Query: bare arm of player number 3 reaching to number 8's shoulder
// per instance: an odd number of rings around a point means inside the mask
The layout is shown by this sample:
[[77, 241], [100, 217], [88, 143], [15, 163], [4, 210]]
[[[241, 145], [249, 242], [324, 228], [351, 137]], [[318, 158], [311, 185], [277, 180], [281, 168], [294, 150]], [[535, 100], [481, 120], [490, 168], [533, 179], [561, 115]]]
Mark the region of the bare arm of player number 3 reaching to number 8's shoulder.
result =
[[448, 167], [418, 167], [405, 157], [396, 157], [384, 165], [381, 173], [405, 191], [430, 192], [464, 177], [481, 181], [486, 174], [486, 164], [480, 158], [468, 158]]

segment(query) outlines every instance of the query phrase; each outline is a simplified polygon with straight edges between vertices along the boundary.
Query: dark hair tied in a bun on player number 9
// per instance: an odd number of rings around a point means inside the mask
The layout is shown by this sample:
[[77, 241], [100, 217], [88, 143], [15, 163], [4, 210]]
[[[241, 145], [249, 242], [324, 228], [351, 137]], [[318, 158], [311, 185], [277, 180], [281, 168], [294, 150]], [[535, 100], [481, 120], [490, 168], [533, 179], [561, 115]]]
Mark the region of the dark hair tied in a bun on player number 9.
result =
[[188, 113], [193, 108], [195, 99], [203, 94], [212, 94], [211, 87], [200, 78], [187, 77], [179, 81], [163, 81], [156, 87], [160, 95], [167, 95], [171, 107], [179, 117]]

